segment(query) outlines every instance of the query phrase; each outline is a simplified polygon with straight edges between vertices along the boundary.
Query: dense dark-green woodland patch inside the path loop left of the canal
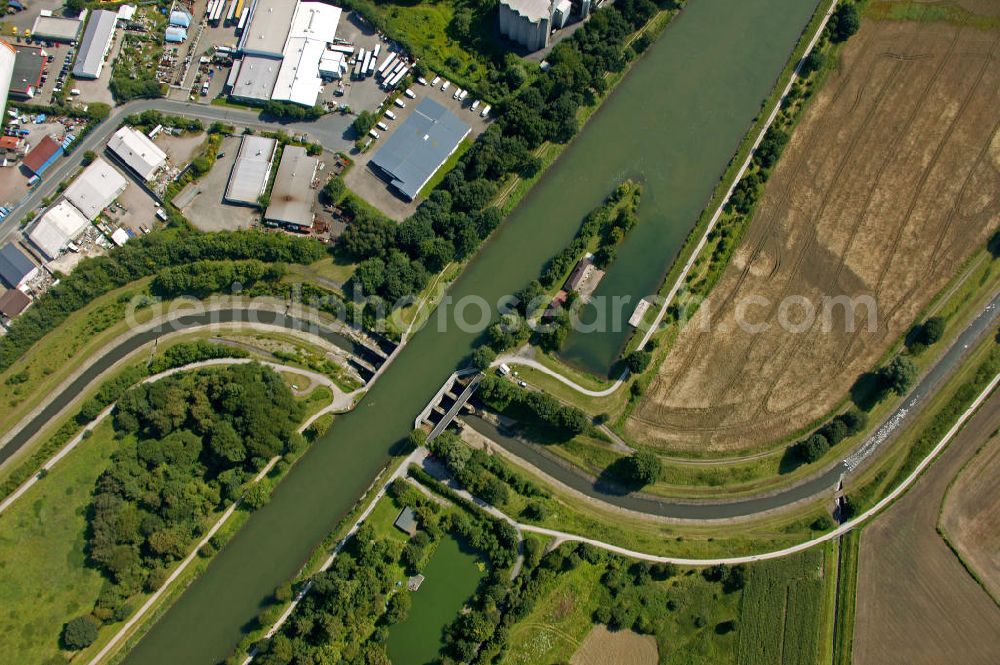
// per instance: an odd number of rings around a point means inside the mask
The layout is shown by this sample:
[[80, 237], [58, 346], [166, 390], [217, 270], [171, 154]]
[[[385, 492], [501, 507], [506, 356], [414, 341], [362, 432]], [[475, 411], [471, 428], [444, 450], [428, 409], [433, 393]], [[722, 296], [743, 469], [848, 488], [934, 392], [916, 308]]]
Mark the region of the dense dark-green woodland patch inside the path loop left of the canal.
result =
[[93, 614], [122, 620], [128, 599], [158, 588], [207, 518], [238, 498], [269, 458], [299, 449], [302, 406], [256, 363], [142, 384], [114, 414], [122, 444], [88, 511], [89, 561], [107, 579]]

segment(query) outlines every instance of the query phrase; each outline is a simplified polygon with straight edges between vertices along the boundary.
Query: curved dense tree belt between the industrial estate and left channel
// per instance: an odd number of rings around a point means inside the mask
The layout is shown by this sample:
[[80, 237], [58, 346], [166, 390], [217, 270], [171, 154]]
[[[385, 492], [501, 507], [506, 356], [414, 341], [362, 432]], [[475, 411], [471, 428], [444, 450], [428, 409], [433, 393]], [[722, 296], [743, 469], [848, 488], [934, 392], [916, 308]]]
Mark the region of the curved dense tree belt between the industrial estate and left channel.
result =
[[236, 231], [203, 234], [166, 229], [135, 238], [106, 256], [85, 259], [57, 286], [14, 320], [0, 338], [0, 371], [94, 299], [159, 270], [194, 261], [256, 259], [265, 263], [312, 263], [325, 256], [323, 246], [308, 238], [279, 233]]

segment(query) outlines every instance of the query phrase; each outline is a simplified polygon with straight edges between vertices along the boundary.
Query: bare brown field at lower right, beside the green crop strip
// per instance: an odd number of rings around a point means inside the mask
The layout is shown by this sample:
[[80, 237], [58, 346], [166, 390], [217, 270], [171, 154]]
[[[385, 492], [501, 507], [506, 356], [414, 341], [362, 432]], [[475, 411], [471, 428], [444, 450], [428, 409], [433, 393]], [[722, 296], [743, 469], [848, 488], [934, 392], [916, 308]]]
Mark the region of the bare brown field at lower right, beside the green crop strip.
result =
[[994, 393], [917, 483], [861, 532], [855, 665], [996, 663], [1000, 608], [937, 523], [951, 479], [998, 426]]

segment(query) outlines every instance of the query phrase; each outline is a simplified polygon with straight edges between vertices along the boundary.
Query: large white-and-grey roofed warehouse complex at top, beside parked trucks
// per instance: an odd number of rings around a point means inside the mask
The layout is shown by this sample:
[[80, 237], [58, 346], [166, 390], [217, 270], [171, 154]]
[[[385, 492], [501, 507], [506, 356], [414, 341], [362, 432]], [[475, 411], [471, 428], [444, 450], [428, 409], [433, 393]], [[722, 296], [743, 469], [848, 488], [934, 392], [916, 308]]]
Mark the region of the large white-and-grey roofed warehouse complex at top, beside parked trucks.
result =
[[230, 94], [313, 106], [323, 85], [320, 62], [340, 24], [341, 9], [321, 2], [256, 0], [240, 39], [243, 60]]

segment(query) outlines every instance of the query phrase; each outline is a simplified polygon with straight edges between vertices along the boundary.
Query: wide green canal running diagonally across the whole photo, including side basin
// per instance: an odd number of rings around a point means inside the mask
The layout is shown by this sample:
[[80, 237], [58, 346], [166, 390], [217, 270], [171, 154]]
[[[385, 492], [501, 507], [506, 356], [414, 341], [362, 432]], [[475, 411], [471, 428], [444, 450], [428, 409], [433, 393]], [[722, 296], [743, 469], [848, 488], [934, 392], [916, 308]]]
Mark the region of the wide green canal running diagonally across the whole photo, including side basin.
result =
[[[642, 221], [601, 291], [654, 291], [815, 6], [815, 0], [691, 0], [469, 265], [452, 289], [454, 299], [479, 296], [492, 306], [523, 286], [569, 242], [583, 215], [629, 176], [649, 185]], [[313, 445], [126, 663], [208, 664], [232, 652], [268, 595], [298, 573], [398, 450], [427, 400], [464, 364], [476, 335], [456, 325], [442, 329], [436, 319]], [[612, 358], [623, 339], [624, 333], [574, 338], [567, 353], [596, 365]]]

